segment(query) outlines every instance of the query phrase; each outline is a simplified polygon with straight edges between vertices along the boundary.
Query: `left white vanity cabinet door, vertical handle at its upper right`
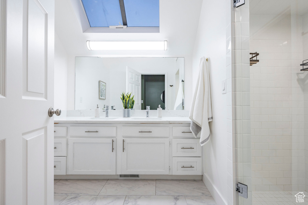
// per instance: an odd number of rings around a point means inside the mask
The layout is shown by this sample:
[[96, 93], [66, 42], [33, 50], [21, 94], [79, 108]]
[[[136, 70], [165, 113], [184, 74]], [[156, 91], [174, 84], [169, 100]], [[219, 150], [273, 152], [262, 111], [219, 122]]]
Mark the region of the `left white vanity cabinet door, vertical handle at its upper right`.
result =
[[115, 174], [115, 139], [70, 138], [68, 174]]

